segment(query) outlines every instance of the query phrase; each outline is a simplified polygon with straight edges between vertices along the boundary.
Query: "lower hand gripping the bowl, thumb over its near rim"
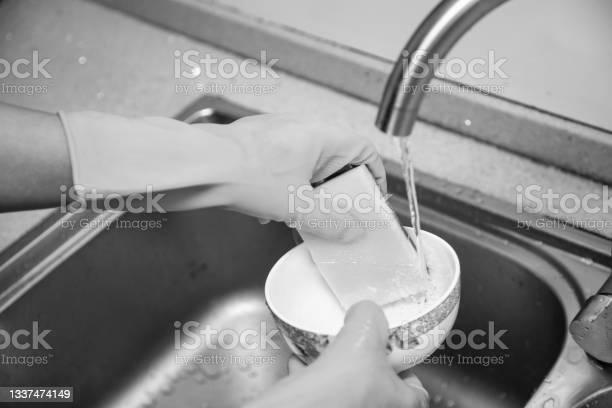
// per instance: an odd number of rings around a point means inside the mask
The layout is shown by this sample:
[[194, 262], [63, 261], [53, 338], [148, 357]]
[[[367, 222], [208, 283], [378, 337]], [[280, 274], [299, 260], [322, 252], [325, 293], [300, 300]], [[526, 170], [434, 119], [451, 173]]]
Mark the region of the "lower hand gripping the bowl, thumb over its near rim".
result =
[[335, 340], [310, 366], [294, 359], [285, 377], [246, 408], [426, 408], [429, 394], [414, 375], [400, 378], [387, 361], [387, 321], [376, 304], [347, 312]]

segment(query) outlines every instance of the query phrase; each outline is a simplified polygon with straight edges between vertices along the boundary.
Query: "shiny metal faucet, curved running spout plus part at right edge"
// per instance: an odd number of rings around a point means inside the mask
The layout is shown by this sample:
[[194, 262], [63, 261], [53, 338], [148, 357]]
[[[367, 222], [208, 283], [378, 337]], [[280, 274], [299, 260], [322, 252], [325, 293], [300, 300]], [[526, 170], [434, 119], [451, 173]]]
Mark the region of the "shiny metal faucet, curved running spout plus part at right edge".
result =
[[[376, 126], [392, 136], [411, 134], [435, 61], [444, 58], [477, 21], [506, 0], [442, 0], [404, 46], [383, 92]], [[610, 265], [612, 267], [612, 263]], [[591, 357], [612, 363], [612, 276], [570, 324], [576, 343]]]

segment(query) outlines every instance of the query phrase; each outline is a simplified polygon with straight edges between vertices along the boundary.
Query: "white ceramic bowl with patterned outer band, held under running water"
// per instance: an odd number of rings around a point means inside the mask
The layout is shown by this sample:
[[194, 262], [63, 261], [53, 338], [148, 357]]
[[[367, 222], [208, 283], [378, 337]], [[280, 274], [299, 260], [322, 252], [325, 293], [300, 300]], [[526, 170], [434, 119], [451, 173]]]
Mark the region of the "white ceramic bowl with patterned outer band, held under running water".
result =
[[[398, 372], [433, 353], [459, 310], [459, 259], [442, 238], [422, 231], [427, 263], [436, 273], [438, 297], [413, 316], [389, 319], [389, 361]], [[433, 275], [432, 275], [433, 276]], [[291, 350], [309, 364], [342, 328], [345, 311], [320, 275], [304, 244], [283, 255], [266, 279], [268, 308]]]

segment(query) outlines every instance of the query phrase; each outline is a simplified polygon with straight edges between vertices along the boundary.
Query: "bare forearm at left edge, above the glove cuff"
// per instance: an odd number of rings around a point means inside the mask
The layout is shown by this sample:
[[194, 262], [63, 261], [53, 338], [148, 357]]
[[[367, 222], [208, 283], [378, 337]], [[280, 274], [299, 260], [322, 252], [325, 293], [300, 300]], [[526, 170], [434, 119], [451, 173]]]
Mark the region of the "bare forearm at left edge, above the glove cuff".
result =
[[0, 103], [0, 212], [55, 207], [72, 185], [57, 115]]

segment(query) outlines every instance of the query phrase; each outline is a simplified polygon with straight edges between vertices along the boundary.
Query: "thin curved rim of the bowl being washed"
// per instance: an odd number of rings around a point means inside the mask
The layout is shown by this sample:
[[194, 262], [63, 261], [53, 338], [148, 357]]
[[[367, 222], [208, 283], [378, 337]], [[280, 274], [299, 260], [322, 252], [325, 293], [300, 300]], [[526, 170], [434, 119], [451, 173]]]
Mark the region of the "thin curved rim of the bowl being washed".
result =
[[[411, 227], [403, 227], [404, 229], [411, 229]], [[453, 264], [453, 271], [454, 271], [454, 275], [452, 276], [451, 280], [450, 280], [450, 284], [448, 285], [448, 287], [445, 289], [445, 291], [443, 292], [443, 295], [440, 296], [436, 302], [432, 303], [428, 308], [423, 309], [423, 311], [421, 313], [419, 313], [418, 315], [416, 315], [412, 320], [409, 320], [407, 322], [403, 322], [403, 323], [398, 323], [395, 326], [391, 326], [391, 323], [389, 322], [389, 330], [395, 330], [399, 327], [402, 326], [406, 326], [406, 325], [410, 325], [411, 323], [423, 318], [425, 315], [427, 315], [428, 313], [430, 313], [431, 311], [435, 310], [437, 307], [439, 307], [442, 303], [444, 303], [444, 301], [446, 299], [448, 299], [448, 297], [453, 293], [453, 291], [455, 290], [455, 288], [457, 287], [457, 285], [459, 284], [459, 280], [461, 277], [461, 269], [460, 269], [460, 264], [459, 264], [459, 257], [457, 256], [457, 253], [455, 252], [455, 249], [448, 243], [446, 242], [444, 239], [442, 239], [441, 237], [439, 237], [438, 235], [429, 232], [429, 231], [425, 231], [423, 229], [421, 229], [420, 231], [421, 234], [424, 234], [425, 236], [428, 237], [428, 239], [432, 239], [434, 241], [437, 241], [442, 248], [444, 248], [444, 250], [450, 254], [451, 258], [452, 258], [452, 264]], [[313, 331], [312, 329], [309, 328], [305, 328], [305, 327], [300, 327], [298, 325], [293, 324], [292, 322], [290, 322], [289, 320], [286, 319], [285, 316], [283, 316], [282, 313], [279, 312], [279, 310], [273, 305], [273, 303], [270, 300], [270, 281], [271, 281], [271, 276], [273, 276], [274, 274], [278, 273], [278, 270], [281, 268], [281, 266], [283, 265], [283, 263], [286, 262], [287, 258], [289, 258], [290, 256], [292, 256], [293, 253], [302, 250], [302, 248], [304, 248], [304, 243], [301, 243], [299, 245], [296, 245], [295, 247], [291, 248], [289, 251], [287, 251], [286, 253], [283, 254], [283, 256], [281, 256], [272, 266], [272, 268], [270, 268], [270, 272], [268, 272], [268, 275], [266, 276], [266, 282], [264, 285], [264, 296], [265, 296], [265, 300], [266, 300], [266, 305], [268, 306], [268, 308], [270, 309], [270, 311], [272, 312], [272, 314], [274, 315], [274, 317], [276, 317], [277, 319], [282, 320], [285, 324], [291, 326], [291, 327], [295, 327], [296, 329], [305, 331], [305, 332], [310, 332], [310, 333], [315, 333], [318, 335], [322, 335], [322, 336], [335, 336], [337, 333], [331, 334], [331, 333], [318, 333]], [[306, 249], [307, 250], [307, 249]], [[346, 310], [344, 311], [346, 313]]]

